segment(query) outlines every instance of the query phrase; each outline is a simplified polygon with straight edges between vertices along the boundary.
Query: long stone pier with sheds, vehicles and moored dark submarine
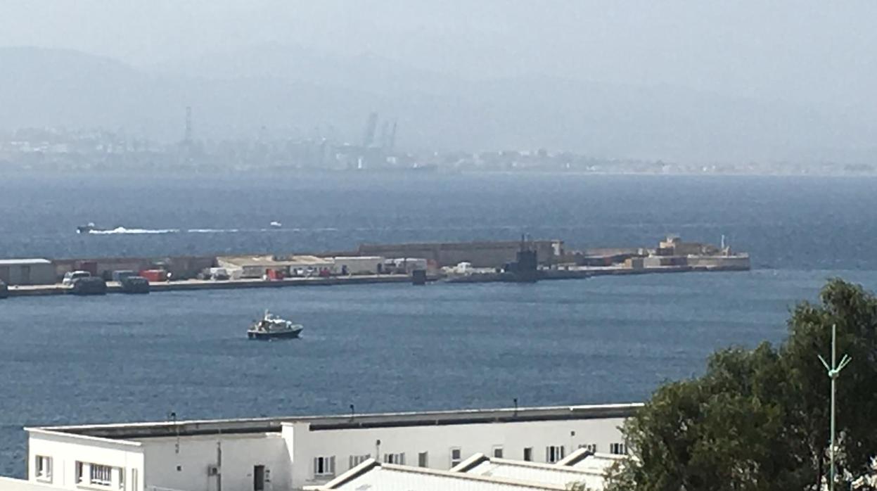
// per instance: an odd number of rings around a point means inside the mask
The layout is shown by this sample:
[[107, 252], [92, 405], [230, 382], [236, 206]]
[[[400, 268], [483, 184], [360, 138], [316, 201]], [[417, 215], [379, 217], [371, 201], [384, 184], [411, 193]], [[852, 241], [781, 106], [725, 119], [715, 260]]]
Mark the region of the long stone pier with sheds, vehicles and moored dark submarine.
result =
[[[64, 274], [80, 270], [107, 281], [106, 293], [133, 293], [131, 288], [110, 280], [121, 273], [140, 274], [149, 280], [147, 290], [162, 292], [407, 281], [573, 280], [605, 275], [747, 271], [750, 267], [746, 253], [732, 253], [724, 245], [683, 242], [676, 236], [669, 236], [653, 249], [582, 252], [567, 252], [560, 240], [360, 245], [355, 253], [0, 260], [0, 281], [8, 285], [0, 297], [72, 293], [72, 288], [58, 281]], [[211, 274], [213, 270], [221, 270], [222, 274]]]

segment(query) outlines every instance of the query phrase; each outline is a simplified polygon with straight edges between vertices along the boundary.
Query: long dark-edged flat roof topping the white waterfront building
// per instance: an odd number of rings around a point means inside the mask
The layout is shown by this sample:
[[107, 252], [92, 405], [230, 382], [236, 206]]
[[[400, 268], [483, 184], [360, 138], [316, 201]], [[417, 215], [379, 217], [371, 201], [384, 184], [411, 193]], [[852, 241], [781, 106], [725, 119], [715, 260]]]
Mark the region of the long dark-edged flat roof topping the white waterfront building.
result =
[[84, 424], [25, 428], [97, 438], [133, 439], [175, 436], [265, 433], [281, 431], [284, 423], [309, 423], [310, 431], [394, 428], [451, 424], [513, 423], [579, 419], [625, 418], [642, 403], [552, 406], [541, 408], [460, 409], [403, 413], [329, 416], [278, 416], [246, 419], [208, 419], [150, 423]]

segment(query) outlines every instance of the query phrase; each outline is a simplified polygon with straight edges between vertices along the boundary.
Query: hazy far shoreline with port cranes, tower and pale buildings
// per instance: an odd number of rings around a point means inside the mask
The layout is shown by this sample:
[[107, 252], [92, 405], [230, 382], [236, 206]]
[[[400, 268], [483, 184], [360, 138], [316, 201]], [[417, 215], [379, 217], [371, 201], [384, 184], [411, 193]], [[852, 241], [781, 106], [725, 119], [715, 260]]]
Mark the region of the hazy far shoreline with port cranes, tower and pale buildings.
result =
[[[379, 131], [380, 128], [380, 131]], [[0, 133], [6, 170], [310, 170], [494, 171], [598, 174], [872, 174], [872, 165], [825, 162], [678, 163], [614, 159], [566, 151], [499, 150], [412, 152], [396, 148], [396, 121], [367, 117], [361, 141], [312, 136], [197, 139], [187, 108], [182, 139], [173, 143], [124, 131], [25, 128]]]

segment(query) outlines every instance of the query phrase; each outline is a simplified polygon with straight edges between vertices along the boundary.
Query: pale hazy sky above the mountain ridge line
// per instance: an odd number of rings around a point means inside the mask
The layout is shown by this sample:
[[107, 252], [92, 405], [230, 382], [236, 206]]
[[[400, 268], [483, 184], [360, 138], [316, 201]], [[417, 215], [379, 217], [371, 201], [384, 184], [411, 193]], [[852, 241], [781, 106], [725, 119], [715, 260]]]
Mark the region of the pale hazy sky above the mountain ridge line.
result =
[[0, 46], [150, 65], [264, 43], [456, 75], [667, 83], [877, 105], [877, 2], [2, 0]]

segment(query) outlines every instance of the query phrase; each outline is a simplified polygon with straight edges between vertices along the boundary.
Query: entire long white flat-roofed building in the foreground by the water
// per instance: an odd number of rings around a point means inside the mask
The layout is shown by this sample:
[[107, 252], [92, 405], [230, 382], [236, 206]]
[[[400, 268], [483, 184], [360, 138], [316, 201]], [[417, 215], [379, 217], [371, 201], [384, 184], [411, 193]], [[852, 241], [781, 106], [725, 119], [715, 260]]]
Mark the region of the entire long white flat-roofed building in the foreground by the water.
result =
[[[55, 489], [274, 491], [324, 486], [369, 459], [437, 473], [464, 473], [460, 464], [477, 453], [495, 466], [509, 466], [503, 458], [557, 464], [580, 448], [624, 452], [619, 428], [638, 406], [27, 428], [28, 480]], [[479, 480], [482, 462], [467, 464], [467, 479]], [[536, 488], [557, 487], [545, 486]]]

